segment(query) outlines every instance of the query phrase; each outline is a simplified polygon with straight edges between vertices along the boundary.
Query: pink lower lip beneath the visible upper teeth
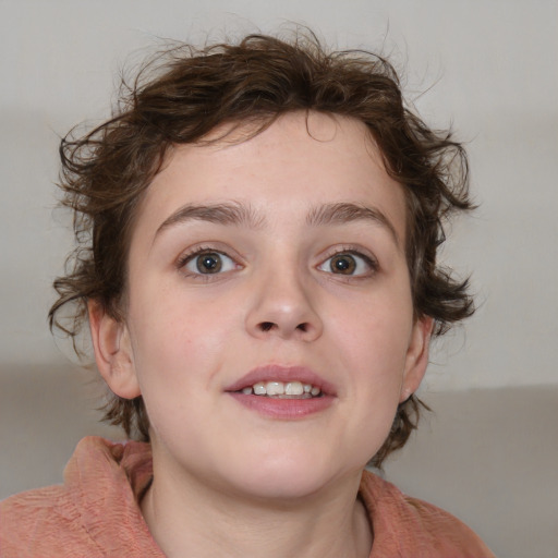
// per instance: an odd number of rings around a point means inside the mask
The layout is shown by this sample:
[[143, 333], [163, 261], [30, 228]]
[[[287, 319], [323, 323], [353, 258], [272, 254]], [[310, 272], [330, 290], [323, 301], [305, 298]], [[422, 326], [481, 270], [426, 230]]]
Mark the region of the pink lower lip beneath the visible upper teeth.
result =
[[247, 396], [238, 391], [229, 391], [239, 403], [259, 414], [283, 420], [304, 418], [328, 409], [333, 398], [331, 396], [314, 397], [311, 399], [278, 399], [264, 396]]

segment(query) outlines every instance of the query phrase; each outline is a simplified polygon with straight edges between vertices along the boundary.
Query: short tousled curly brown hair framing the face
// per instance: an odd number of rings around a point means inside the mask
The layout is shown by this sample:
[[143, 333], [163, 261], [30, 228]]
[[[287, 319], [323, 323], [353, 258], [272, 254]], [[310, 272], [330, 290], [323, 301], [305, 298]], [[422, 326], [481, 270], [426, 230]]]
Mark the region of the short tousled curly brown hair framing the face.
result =
[[[124, 83], [124, 82], [123, 82]], [[236, 45], [196, 50], [179, 46], [158, 56], [122, 87], [113, 117], [81, 138], [62, 140], [63, 205], [74, 211], [77, 247], [66, 275], [54, 281], [58, 300], [49, 319], [73, 339], [95, 300], [117, 319], [125, 294], [126, 259], [135, 208], [160, 170], [167, 149], [204, 141], [216, 126], [257, 125], [313, 110], [366, 124], [387, 172], [408, 202], [407, 257], [414, 312], [435, 319], [435, 335], [473, 313], [466, 281], [437, 265], [444, 220], [471, 207], [463, 148], [449, 132], [430, 130], [404, 104], [392, 65], [365, 51], [328, 52], [313, 35], [284, 41], [251, 35]], [[73, 303], [70, 323], [59, 311]], [[391, 433], [372, 463], [379, 465], [416, 428], [414, 396], [399, 405]], [[126, 435], [148, 439], [141, 397], [118, 397], [105, 418]]]

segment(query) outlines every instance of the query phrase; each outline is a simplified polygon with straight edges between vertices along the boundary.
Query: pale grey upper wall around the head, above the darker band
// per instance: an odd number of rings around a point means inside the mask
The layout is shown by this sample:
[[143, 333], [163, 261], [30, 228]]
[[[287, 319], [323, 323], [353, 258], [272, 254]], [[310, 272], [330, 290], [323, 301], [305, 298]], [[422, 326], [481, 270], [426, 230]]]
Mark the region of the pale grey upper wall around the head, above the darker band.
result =
[[558, 3], [543, 0], [1, 0], [0, 372], [64, 359], [45, 319], [71, 246], [53, 213], [59, 136], [108, 116], [119, 69], [161, 37], [289, 21], [391, 56], [426, 120], [469, 143], [481, 208], [442, 257], [473, 272], [481, 307], [437, 343], [427, 386], [558, 383]]

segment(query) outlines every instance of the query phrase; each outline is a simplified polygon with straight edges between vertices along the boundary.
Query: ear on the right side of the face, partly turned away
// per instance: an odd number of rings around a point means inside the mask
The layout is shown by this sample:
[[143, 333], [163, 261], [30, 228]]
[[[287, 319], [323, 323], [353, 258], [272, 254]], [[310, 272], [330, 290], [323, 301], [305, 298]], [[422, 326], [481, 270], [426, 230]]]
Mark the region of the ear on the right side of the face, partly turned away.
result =
[[434, 319], [429, 316], [417, 319], [413, 325], [411, 342], [407, 351], [405, 371], [399, 402], [409, 399], [421, 385], [428, 365], [432, 330]]

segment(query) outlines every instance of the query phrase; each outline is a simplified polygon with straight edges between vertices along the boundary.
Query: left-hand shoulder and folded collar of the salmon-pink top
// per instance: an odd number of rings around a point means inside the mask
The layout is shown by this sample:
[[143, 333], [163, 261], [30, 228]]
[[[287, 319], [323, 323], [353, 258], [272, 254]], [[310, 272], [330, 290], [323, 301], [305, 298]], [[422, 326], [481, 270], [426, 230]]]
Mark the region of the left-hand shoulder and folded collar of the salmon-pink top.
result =
[[145, 444], [85, 438], [64, 470], [64, 484], [0, 502], [0, 558], [161, 557], [137, 497], [150, 478]]

